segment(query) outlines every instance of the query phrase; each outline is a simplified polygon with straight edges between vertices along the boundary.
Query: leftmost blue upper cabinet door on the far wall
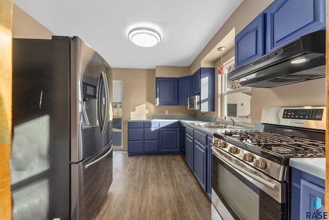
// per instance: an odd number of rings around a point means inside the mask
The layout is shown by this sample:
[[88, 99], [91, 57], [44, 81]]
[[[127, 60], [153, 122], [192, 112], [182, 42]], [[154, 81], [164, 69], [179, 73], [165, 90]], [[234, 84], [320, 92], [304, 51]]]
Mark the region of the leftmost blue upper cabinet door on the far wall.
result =
[[178, 78], [155, 78], [156, 105], [178, 104]]

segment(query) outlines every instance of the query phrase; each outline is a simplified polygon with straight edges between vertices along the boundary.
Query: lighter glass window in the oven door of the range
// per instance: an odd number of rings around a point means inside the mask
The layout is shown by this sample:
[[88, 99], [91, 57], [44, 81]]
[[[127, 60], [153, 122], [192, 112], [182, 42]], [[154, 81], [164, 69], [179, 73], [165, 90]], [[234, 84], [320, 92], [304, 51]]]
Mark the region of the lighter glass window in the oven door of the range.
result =
[[[233, 212], [245, 220], [259, 218], [259, 195], [236, 178], [231, 172], [218, 164], [218, 189]], [[252, 213], [246, 215], [246, 213]]]

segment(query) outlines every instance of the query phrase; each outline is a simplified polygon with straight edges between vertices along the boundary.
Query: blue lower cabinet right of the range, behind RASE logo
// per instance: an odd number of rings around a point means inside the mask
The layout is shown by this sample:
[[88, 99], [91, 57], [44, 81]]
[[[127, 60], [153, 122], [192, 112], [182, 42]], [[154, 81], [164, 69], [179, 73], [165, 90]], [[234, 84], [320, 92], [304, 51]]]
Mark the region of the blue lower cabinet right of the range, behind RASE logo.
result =
[[324, 179], [291, 168], [291, 219], [326, 219]]

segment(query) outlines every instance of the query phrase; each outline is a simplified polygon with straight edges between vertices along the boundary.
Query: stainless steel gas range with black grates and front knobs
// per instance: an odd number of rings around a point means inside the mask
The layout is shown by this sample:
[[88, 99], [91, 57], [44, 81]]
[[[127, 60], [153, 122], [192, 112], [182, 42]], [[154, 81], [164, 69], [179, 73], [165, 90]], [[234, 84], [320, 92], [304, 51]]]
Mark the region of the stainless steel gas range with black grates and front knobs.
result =
[[266, 107], [263, 131], [215, 133], [212, 219], [289, 219], [289, 159], [325, 157], [325, 116], [324, 106]]

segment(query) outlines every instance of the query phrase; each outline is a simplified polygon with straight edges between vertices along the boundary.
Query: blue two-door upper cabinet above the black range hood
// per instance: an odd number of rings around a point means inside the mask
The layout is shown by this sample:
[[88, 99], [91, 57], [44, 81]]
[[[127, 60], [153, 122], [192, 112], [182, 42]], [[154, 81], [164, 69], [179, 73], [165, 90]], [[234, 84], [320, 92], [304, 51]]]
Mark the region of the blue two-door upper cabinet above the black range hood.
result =
[[325, 28], [325, 0], [276, 0], [235, 36], [235, 68]]

